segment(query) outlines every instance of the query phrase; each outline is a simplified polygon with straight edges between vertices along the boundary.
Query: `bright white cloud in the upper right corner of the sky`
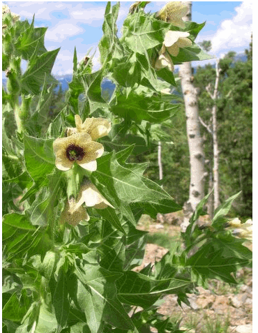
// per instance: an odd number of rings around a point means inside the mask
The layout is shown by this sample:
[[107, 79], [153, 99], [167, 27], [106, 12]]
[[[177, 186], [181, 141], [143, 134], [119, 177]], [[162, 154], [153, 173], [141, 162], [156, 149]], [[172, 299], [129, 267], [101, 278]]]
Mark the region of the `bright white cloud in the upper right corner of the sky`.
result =
[[252, 34], [252, 3], [244, 1], [235, 10], [236, 15], [232, 20], [222, 21], [215, 35], [202, 38], [211, 40], [211, 53], [219, 54], [222, 50], [236, 47], [244, 50], [248, 47]]

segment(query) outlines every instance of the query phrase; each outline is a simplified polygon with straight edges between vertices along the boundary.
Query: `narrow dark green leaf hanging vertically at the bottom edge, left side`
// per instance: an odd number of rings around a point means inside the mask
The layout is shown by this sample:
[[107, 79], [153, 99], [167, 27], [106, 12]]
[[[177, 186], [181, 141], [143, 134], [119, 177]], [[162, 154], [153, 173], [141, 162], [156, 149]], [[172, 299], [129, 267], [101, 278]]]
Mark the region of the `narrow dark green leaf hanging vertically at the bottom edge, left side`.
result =
[[63, 269], [59, 269], [56, 289], [54, 290], [53, 305], [58, 323], [56, 333], [59, 333], [63, 327], [66, 327], [70, 309], [66, 274], [63, 272]]

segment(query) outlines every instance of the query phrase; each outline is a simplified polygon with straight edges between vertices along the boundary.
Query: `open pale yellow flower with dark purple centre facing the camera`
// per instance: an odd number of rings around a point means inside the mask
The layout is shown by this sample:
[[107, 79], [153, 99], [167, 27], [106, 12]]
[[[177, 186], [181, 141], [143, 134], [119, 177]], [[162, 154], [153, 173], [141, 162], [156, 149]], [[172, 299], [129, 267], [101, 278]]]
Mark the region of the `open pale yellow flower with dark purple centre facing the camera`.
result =
[[75, 133], [67, 138], [58, 138], [53, 142], [53, 149], [56, 168], [63, 171], [72, 168], [75, 162], [86, 170], [95, 171], [96, 158], [104, 152], [103, 145], [91, 140], [91, 135], [87, 133]]

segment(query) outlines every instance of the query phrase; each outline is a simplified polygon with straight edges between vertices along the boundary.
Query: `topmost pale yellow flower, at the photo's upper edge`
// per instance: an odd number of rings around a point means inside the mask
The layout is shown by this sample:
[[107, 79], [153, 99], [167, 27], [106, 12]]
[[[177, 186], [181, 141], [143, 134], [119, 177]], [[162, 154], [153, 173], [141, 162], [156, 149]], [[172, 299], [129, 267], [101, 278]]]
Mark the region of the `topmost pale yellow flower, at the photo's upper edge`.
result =
[[184, 28], [182, 17], [188, 13], [188, 6], [181, 1], [170, 1], [157, 13], [156, 17], [162, 21], [172, 23], [175, 27]]

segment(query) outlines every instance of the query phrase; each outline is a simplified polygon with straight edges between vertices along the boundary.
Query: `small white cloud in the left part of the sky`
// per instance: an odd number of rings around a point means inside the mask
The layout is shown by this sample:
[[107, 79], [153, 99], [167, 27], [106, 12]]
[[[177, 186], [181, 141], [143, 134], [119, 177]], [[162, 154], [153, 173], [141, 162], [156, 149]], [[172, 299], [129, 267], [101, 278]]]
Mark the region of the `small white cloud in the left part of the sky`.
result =
[[54, 28], [47, 29], [45, 34], [46, 40], [54, 40], [55, 42], [61, 43], [68, 37], [84, 32], [84, 29], [77, 27], [75, 24], [69, 23], [70, 21], [61, 22], [61, 24], [57, 24]]

